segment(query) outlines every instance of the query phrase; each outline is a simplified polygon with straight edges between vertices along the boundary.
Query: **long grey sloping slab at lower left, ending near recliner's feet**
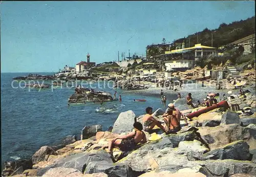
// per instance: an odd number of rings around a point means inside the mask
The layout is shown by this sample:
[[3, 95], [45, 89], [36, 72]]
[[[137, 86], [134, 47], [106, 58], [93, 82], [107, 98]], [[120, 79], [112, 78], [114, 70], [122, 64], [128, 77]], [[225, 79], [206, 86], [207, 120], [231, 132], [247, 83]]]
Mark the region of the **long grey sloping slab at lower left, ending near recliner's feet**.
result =
[[86, 167], [90, 162], [101, 162], [104, 161], [106, 163], [113, 163], [111, 157], [106, 151], [99, 150], [97, 153], [79, 153], [67, 156], [65, 158], [59, 159], [54, 164], [47, 166], [45, 168], [38, 169], [37, 175], [42, 176], [46, 171], [50, 168], [56, 167], [66, 167], [66, 168], [74, 168], [78, 169], [82, 173], [86, 170]]

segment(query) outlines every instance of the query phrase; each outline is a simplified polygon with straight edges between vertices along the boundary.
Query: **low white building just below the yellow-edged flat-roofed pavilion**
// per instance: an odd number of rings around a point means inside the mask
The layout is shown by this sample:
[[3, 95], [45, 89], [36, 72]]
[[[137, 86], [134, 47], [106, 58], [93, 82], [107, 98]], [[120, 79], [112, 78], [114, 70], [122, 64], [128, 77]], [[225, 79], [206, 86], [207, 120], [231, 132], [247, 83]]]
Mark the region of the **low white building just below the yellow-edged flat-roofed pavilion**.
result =
[[195, 60], [172, 60], [166, 61], [166, 70], [172, 70], [177, 68], [193, 68], [195, 65]]

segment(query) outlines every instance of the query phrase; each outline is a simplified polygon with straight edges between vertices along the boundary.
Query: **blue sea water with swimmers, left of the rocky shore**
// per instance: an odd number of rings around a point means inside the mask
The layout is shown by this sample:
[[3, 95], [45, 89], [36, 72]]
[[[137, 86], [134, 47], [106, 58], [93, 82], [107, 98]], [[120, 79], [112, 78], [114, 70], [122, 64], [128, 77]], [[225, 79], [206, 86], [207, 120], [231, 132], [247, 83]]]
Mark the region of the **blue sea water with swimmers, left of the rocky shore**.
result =
[[[76, 135], [79, 139], [85, 125], [101, 124], [106, 130], [114, 124], [120, 112], [133, 110], [139, 116], [148, 106], [154, 110], [162, 107], [159, 97], [122, 94], [119, 89], [117, 96], [122, 95], [122, 102], [104, 103], [103, 112], [99, 104], [68, 107], [68, 98], [74, 93], [74, 88], [63, 87], [53, 91], [51, 88], [40, 91], [12, 88], [12, 78], [28, 74], [1, 73], [2, 165], [7, 160], [28, 158], [41, 146], [52, 145], [67, 135]], [[24, 85], [23, 82], [21, 86]], [[112, 94], [115, 92], [112, 88], [104, 90]], [[167, 97], [173, 100], [176, 93]], [[147, 101], [133, 102], [133, 99]]]

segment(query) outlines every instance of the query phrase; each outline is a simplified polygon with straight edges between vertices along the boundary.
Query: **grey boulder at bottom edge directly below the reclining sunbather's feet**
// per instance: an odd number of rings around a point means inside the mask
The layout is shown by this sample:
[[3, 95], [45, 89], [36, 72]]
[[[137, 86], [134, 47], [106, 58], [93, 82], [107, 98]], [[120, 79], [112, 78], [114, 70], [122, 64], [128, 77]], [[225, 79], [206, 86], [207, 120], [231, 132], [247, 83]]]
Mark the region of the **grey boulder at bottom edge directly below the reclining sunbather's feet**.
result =
[[114, 165], [113, 163], [109, 163], [107, 161], [100, 162], [90, 162], [86, 166], [86, 170], [84, 174], [92, 174], [104, 172], [108, 174], [108, 176], [120, 176], [120, 177], [133, 177], [133, 170], [131, 167], [125, 164]]

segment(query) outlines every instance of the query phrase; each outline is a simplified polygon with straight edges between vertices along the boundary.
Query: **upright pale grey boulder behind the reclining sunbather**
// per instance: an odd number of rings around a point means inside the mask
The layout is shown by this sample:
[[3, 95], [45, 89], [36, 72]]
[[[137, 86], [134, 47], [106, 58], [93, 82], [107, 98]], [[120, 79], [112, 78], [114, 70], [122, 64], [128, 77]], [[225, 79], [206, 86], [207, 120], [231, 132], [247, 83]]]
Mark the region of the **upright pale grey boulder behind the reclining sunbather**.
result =
[[121, 134], [123, 132], [131, 132], [136, 115], [133, 111], [121, 112], [114, 123], [112, 133]]

